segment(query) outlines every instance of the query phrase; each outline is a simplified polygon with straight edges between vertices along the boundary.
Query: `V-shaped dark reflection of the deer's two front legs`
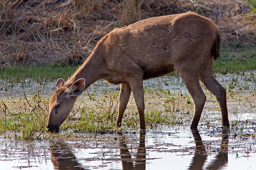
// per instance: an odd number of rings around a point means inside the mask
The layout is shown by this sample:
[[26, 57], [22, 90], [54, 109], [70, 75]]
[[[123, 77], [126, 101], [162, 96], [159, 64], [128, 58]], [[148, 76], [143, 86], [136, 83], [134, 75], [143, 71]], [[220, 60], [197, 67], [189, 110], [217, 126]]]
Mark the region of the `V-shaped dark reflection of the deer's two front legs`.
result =
[[[119, 148], [120, 156], [122, 161], [123, 170], [145, 170], [146, 169], [146, 150], [145, 150], [145, 131], [140, 132], [140, 143], [138, 146], [138, 151], [135, 159], [128, 150], [125, 144], [124, 137], [120, 135], [119, 137]], [[134, 161], [134, 164], [133, 164]]]

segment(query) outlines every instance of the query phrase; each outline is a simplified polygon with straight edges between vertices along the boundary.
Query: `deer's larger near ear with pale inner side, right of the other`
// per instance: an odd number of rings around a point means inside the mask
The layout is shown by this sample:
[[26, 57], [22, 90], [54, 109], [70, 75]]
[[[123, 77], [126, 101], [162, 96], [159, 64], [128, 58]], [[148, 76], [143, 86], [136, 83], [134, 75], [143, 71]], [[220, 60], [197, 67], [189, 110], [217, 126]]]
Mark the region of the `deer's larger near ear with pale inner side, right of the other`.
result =
[[80, 78], [72, 84], [71, 89], [68, 89], [67, 93], [69, 96], [79, 96], [84, 91], [84, 88], [85, 88], [85, 79]]

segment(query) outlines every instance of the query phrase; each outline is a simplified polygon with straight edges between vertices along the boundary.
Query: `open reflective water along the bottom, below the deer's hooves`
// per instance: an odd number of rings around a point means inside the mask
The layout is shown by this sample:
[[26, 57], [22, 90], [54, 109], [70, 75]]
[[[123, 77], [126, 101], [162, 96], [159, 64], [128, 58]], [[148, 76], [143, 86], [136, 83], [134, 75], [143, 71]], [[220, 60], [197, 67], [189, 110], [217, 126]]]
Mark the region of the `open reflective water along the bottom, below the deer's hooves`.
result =
[[[251, 128], [248, 128], [251, 129]], [[229, 129], [170, 127], [146, 133], [98, 134], [64, 141], [15, 142], [0, 139], [4, 169], [254, 169], [252, 137], [234, 137]], [[8, 141], [9, 140], [9, 141]], [[1, 168], [2, 169], [2, 168]]]

